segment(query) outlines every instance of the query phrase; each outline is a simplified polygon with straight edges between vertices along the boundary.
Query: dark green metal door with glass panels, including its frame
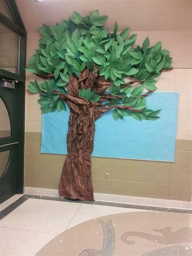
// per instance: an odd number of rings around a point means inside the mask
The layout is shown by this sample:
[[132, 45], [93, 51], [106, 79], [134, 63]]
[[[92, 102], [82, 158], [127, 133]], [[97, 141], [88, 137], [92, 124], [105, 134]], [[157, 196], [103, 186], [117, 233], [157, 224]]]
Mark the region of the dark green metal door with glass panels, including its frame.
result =
[[[10, 16], [6, 8], [10, 11]], [[0, 2], [0, 203], [16, 193], [23, 193], [25, 61], [26, 31], [19, 11], [14, 0], [2, 0]]]

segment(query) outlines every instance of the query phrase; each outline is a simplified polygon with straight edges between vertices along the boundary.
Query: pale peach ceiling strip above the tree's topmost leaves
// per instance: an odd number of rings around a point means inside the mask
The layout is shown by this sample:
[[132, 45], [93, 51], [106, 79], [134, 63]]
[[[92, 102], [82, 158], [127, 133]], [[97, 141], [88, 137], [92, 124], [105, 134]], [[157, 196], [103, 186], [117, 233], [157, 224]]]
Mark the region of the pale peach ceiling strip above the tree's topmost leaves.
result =
[[73, 11], [85, 16], [98, 9], [108, 15], [113, 30], [188, 31], [192, 28], [192, 0], [16, 0], [27, 32], [37, 32], [42, 23], [55, 25], [68, 19]]

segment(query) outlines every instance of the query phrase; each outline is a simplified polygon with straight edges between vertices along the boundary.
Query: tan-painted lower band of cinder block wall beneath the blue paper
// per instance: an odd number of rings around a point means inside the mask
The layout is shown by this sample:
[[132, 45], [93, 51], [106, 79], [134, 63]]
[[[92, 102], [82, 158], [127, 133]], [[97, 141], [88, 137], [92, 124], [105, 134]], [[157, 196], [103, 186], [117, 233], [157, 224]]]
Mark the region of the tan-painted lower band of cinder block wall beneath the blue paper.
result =
[[[40, 132], [26, 132], [25, 186], [58, 189], [66, 156], [41, 154], [40, 145]], [[191, 148], [177, 140], [174, 163], [92, 157], [94, 192], [190, 201]]]

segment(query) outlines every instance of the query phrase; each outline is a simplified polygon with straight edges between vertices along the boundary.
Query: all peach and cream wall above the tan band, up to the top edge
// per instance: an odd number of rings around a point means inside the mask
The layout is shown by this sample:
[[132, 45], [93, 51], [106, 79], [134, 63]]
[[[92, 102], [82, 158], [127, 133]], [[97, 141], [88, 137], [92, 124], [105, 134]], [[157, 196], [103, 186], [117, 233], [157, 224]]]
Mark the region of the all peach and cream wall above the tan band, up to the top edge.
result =
[[[16, 0], [28, 30], [27, 59], [38, 48], [42, 23], [54, 25], [68, 19], [73, 10], [85, 15], [87, 11], [100, 9], [100, 14], [109, 15], [109, 29], [117, 20], [119, 30], [130, 26], [131, 34], [137, 33], [137, 44], [149, 36], [151, 45], [161, 40], [163, 48], [171, 51], [174, 70], [158, 78], [159, 91], [179, 92], [179, 118], [177, 139], [192, 139], [192, 34], [191, 0]], [[102, 6], [102, 8], [101, 8]], [[131, 10], [131, 11], [128, 11]], [[158, 14], [157, 14], [158, 10]], [[153, 30], [153, 31], [152, 31]], [[187, 31], [188, 30], [188, 31]], [[31, 33], [35, 32], [35, 33]], [[27, 73], [26, 84], [36, 77]], [[26, 93], [26, 131], [41, 132], [38, 95]]]

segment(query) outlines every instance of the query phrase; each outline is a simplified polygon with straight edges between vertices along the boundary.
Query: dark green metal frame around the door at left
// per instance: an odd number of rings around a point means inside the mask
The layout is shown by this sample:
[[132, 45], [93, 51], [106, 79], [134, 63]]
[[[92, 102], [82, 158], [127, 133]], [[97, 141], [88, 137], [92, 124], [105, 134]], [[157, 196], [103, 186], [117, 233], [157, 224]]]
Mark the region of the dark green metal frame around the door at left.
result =
[[[19, 81], [18, 95], [17, 95], [17, 193], [23, 193], [24, 181], [24, 132], [25, 132], [25, 79], [26, 79], [26, 30], [22, 22], [19, 10], [15, 0], [6, 0], [9, 10], [15, 22], [8, 19], [5, 15], [0, 13], [0, 23], [4, 24], [9, 29], [13, 30], [19, 35], [19, 49], [18, 49], [18, 74], [0, 68], [0, 78], [11, 79]], [[3, 143], [3, 144], [2, 144]], [[13, 136], [0, 139], [0, 145], [4, 145], [4, 149], [9, 148], [13, 142]], [[13, 145], [13, 144], [12, 144]]]

